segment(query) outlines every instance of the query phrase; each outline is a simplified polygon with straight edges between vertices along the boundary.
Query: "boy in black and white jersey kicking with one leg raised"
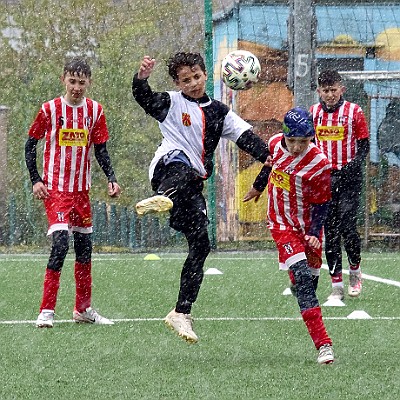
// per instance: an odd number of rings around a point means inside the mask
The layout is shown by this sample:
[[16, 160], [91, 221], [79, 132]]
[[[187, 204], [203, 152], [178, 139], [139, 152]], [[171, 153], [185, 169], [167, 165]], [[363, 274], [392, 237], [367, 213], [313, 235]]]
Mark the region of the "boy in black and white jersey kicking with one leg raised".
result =
[[165, 322], [184, 340], [195, 343], [191, 308], [203, 280], [203, 265], [210, 252], [207, 209], [202, 190], [213, 171], [213, 155], [221, 138], [265, 163], [266, 144], [251, 125], [225, 104], [205, 93], [207, 72], [199, 53], [177, 53], [168, 60], [169, 75], [178, 91], [153, 92], [147, 79], [155, 60], [145, 56], [133, 77], [135, 100], [158, 121], [163, 139], [150, 164], [155, 196], [136, 205], [139, 215], [170, 212], [170, 225], [182, 232], [189, 246], [183, 265], [175, 308]]

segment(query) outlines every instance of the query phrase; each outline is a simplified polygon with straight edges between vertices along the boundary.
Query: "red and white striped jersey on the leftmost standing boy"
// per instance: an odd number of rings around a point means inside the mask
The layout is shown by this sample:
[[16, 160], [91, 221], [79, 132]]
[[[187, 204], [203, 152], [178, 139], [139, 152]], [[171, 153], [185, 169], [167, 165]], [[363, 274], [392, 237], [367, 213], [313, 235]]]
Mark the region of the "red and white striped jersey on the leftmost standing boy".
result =
[[45, 137], [42, 179], [49, 190], [89, 190], [92, 144], [109, 138], [101, 104], [88, 98], [79, 106], [70, 105], [63, 97], [50, 100], [42, 104], [29, 136]]

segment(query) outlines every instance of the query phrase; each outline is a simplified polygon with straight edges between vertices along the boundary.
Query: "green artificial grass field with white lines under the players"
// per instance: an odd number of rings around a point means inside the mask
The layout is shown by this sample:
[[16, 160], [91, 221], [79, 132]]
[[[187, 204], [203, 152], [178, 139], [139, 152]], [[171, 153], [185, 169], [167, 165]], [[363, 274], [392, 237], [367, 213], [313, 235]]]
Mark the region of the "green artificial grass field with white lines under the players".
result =
[[[284, 296], [276, 253], [212, 253], [193, 307], [199, 343], [163, 323], [185, 254], [93, 257], [93, 307], [113, 326], [71, 322], [73, 260], [66, 261], [53, 329], [37, 329], [47, 256], [1, 255], [0, 399], [397, 399], [400, 396], [400, 254], [364, 253], [364, 292], [325, 307], [337, 360], [319, 366]], [[379, 281], [377, 278], [386, 279]], [[345, 276], [347, 284], [348, 277]], [[322, 270], [318, 297], [329, 295]], [[347, 318], [364, 311], [368, 319]]]

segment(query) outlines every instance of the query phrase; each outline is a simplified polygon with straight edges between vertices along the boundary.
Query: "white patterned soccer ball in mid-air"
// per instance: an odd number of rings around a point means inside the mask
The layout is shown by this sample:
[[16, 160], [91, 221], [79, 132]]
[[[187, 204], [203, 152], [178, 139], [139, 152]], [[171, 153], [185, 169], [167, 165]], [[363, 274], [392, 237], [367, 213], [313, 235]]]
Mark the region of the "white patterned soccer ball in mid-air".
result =
[[233, 90], [250, 89], [258, 81], [260, 61], [250, 51], [235, 50], [222, 60], [222, 80]]

